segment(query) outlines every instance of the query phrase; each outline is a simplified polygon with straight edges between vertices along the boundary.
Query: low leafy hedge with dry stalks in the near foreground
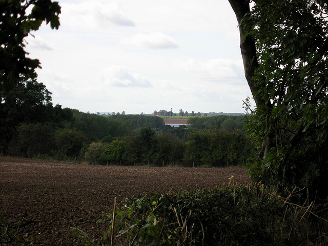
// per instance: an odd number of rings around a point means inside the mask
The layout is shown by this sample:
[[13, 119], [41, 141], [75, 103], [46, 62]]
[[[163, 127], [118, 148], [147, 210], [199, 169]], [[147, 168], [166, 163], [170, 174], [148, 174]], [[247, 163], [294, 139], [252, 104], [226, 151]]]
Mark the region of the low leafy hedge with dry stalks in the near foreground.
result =
[[[98, 223], [102, 238], [84, 245], [324, 245], [327, 222], [313, 227], [313, 207], [294, 207], [261, 184], [214, 190], [139, 194], [127, 199]], [[319, 223], [318, 223], [319, 224]], [[91, 243], [93, 241], [93, 243]], [[96, 242], [96, 243], [95, 243]], [[323, 243], [323, 244], [321, 244]]]

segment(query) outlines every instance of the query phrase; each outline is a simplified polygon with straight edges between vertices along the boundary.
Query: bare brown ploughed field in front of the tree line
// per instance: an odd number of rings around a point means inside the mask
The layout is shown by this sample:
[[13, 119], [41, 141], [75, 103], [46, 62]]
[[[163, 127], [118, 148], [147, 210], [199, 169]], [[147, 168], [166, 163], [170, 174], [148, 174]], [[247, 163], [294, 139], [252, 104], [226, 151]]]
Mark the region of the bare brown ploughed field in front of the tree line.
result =
[[72, 227], [91, 236], [101, 233], [96, 221], [118, 201], [144, 192], [210, 189], [248, 183], [242, 168], [91, 166], [0, 157], [0, 217], [33, 221], [22, 231], [33, 245], [73, 245]]

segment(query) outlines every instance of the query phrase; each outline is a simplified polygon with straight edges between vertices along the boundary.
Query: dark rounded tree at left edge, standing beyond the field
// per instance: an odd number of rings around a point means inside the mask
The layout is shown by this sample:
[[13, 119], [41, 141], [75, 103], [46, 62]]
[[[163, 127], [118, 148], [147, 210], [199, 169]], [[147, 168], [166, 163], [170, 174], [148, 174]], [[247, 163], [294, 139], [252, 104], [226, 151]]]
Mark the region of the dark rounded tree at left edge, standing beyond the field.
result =
[[[0, 135], [2, 136], [0, 149], [2, 151], [6, 151], [10, 144], [9, 152], [23, 151], [28, 155], [45, 152], [50, 154], [53, 149], [51, 145], [54, 129], [63, 127], [63, 122], [69, 121], [72, 121], [71, 110], [61, 109], [60, 105], [53, 107], [51, 92], [36, 79], [20, 77], [12, 90], [8, 92], [4, 88], [0, 90]], [[49, 137], [48, 142], [46, 137]], [[28, 144], [29, 138], [30, 144]], [[40, 152], [36, 153], [36, 151]]]

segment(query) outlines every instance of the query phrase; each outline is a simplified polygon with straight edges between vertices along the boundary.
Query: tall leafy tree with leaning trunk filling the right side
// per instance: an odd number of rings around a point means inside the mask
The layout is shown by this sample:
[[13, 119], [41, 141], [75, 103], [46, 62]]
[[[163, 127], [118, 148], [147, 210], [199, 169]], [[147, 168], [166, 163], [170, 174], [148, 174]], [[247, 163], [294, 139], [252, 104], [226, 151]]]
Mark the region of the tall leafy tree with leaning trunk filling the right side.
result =
[[[328, 5], [322, 0], [229, 0], [256, 110], [250, 130], [257, 177], [281, 188], [328, 192]], [[254, 168], [254, 167], [253, 167]]]

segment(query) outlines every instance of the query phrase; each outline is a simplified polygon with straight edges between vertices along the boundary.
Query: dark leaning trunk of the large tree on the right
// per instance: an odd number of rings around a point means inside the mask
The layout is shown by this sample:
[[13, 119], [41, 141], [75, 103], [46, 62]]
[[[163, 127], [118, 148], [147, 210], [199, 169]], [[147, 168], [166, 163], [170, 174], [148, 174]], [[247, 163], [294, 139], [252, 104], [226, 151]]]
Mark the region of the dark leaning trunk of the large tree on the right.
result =
[[[253, 77], [255, 69], [258, 68], [258, 57], [256, 54], [256, 45], [254, 39], [245, 35], [247, 30], [241, 24], [242, 18], [245, 14], [249, 13], [250, 10], [250, 1], [249, 0], [228, 0], [232, 9], [234, 10], [238, 25], [239, 25], [239, 34], [240, 34], [240, 50], [242, 61], [244, 65], [245, 77], [247, 79], [247, 83], [251, 89], [256, 107], [268, 107], [272, 109], [272, 105], [270, 103], [270, 98], [265, 95], [259, 95], [259, 87], [254, 83]], [[270, 111], [270, 110], [269, 110]], [[268, 112], [270, 113], [270, 112]], [[272, 139], [274, 137], [274, 122], [269, 122], [268, 124], [268, 132], [264, 137], [262, 142], [263, 147], [263, 158], [265, 159], [273, 147]]]

